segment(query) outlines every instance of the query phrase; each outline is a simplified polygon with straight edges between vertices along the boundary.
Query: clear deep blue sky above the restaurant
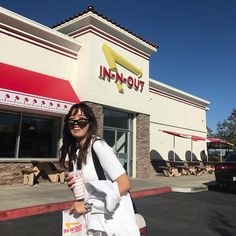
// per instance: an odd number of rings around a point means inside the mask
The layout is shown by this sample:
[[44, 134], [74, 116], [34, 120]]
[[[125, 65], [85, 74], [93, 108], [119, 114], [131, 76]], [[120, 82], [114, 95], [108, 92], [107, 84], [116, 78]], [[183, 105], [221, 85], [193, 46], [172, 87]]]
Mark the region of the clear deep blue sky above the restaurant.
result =
[[89, 5], [160, 46], [150, 58], [150, 78], [209, 101], [213, 132], [236, 108], [235, 0], [0, 0], [45, 26]]

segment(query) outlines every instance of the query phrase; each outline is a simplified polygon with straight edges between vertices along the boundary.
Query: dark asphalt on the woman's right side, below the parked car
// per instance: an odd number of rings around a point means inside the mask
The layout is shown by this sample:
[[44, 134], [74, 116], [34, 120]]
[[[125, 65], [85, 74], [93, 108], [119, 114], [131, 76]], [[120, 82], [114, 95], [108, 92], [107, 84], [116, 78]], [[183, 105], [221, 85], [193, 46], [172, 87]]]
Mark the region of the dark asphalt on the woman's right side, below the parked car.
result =
[[136, 200], [149, 236], [234, 236], [236, 194], [165, 193]]

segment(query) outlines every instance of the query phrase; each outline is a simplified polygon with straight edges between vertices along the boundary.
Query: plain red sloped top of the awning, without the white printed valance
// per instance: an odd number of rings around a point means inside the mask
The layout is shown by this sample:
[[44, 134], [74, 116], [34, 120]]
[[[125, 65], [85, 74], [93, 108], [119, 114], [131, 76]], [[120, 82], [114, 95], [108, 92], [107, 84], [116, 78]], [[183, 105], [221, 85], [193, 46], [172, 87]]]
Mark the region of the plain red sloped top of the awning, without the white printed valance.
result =
[[0, 63], [0, 88], [78, 103], [79, 98], [67, 80]]

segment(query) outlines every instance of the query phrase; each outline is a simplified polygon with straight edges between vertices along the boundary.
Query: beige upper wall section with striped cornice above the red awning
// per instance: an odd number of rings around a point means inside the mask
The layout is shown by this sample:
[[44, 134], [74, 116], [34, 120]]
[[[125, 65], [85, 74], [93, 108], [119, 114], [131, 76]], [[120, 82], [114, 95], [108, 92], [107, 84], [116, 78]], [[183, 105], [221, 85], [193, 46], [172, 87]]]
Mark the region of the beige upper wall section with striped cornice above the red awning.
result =
[[4, 8], [0, 17], [0, 62], [74, 80], [78, 41]]

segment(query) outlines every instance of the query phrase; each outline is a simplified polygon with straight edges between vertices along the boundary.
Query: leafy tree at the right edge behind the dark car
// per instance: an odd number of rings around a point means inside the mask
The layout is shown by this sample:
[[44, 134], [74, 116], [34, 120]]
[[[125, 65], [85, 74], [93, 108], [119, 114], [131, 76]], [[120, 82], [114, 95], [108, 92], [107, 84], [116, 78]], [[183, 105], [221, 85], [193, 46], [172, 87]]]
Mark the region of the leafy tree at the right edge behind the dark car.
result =
[[217, 137], [234, 144], [236, 148], [236, 109], [223, 122], [217, 123]]

